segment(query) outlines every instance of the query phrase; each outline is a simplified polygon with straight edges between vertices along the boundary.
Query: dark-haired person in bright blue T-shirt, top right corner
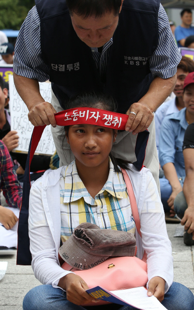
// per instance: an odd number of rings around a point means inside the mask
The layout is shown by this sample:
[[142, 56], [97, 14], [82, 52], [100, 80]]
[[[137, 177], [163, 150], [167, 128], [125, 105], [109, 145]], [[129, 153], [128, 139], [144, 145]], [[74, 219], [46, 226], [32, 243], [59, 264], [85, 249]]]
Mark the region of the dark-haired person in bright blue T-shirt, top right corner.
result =
[[190, 9], [184, 9], [180, 12], [182, 24], [175, 29], [175, 38], [178, 47], [185, 46], [185, 40], [188, 36], [194, 35], [194, 27], [192, 24], [192, 11]]

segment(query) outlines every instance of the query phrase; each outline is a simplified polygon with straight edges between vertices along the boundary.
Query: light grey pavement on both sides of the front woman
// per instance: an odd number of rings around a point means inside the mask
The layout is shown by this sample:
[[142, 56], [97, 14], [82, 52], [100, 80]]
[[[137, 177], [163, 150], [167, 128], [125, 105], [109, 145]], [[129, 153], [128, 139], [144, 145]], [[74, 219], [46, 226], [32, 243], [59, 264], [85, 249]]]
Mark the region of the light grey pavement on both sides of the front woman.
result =
[[[184, 245], [182, 237], [173, 237], [178, 225], [166, 224], [174, 252], [174, 281], [184, 284], [194, 294], [194, 246]], [[16, 265], [16, 253], [0, 256], [0, 261], [8, 262], [6, 274], [0, 280], [0, 310], [22, 310], [25, 294], [40, 282], [35, 279], [31, 266]]]

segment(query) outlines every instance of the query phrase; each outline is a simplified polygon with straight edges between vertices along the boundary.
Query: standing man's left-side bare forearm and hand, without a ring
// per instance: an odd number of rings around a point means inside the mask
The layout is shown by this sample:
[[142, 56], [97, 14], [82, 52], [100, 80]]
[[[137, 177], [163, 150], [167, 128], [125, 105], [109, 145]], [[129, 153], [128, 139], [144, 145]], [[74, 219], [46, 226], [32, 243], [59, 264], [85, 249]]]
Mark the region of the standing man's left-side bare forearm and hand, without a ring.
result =
[[14, 73], [17, 92], [29, 109], [29, 121], [34, 126], [51, 124], [56, 127], [54, 113], [57, 111], [49, 102], [45, 102], [40, 94], [39, 83], [35, 79], [18, 76]]

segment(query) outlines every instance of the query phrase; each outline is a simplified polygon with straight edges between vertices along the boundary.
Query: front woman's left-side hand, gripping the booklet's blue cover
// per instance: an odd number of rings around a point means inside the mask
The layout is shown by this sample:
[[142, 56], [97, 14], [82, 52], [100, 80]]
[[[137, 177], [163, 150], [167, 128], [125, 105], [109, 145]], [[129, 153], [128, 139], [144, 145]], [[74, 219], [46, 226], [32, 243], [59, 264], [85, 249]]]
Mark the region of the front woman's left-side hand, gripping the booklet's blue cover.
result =
[[86, 282], [74, 273], [69, 273], [67, 276], [60, 279], [58, 286], [66, 291], [67, 300], [75, 305], [84, 305], [90, 302], [98, 303], [99, 300], [94, 299], [86, 292], [89, 289]]

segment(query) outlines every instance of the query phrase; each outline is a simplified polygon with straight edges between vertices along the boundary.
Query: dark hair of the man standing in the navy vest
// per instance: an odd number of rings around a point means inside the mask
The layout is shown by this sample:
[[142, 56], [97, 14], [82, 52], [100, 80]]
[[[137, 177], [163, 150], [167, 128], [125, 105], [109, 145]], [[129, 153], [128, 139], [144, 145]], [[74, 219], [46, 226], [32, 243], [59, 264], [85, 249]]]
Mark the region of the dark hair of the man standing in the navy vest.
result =
[[66, 3], [71, 15], [74, 12], [83, 18], [98, 18], [112, 11], [117, 16], [121, 6], [121, 0], [66, 0]]

